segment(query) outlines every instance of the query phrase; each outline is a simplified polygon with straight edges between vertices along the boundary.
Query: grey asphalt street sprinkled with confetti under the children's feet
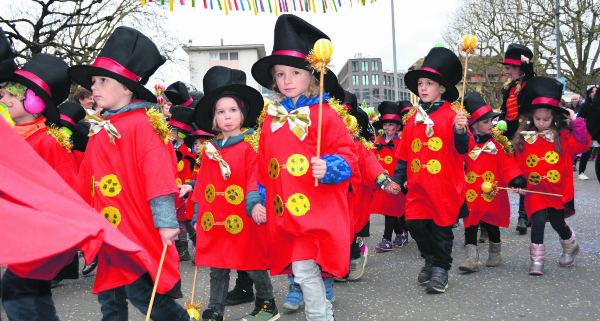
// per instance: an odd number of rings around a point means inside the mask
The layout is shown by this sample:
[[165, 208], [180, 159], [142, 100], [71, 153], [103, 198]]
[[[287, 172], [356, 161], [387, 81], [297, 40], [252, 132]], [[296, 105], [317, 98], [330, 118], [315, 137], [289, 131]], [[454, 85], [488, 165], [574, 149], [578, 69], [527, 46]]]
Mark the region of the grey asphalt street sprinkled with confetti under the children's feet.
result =
[[[423, 264], [415, 241], [410, 239], [402, 248], [376, 253], [381, 241], [383, 217], [371, 215], [371, 237], [367, 269], [358, 281], [335, 283], [335, 319], [340, 320], [600, 320], [600, 184], [595, 179], [594, 166], [587, 166], [589, 181], [575, 178], [577, 214], [567, 223], [577, 232], [581, 252], [571, 268], [561, 268], [561, 253], [556, 232], [546, 225], [547, 260], [542, 276], [527, 274], [529, 268], [529, 232], [518, 235], [518, 197], [511, 194], [511, 226], [500, 228], [502, 235], [502, 265], [487, 268], [487, 244], [480, 250], [481, 271], [463, 274], [458, 265], [464, 259], [463, 225], [454, 229], [452, 252], [454, 263], [449, 273], [446, 293], [431, 295], [416, 281]], [[15, 243], [18, 246], [18, 242]], [[83, 261], [80, 263], [83, 265]], [[190, 299], [194, 267], [190, 262], [180, 265], [184, 304]], [[196, 298], [208, 304], [208, 268], [199, 268]], [[2, 268], [4, 272], [4, 268]], [[95, 272], [78, 280], [65, 280], [53, 289], [53, 298], [61, 320], [100, 320], [100, 305], [92, 295]], [[236, 277], [231, 273], [232, 281]], [[280, 320], [305, 320], [304, 311], [288, 311], [281, 306], [287, 295], [287, 277], [272, 278], [275, 298], [282, 313]], [[233, 285], [230, 286], [230, 289]], [[251, 303], [227, 307], [226, 320], [239, 320], [253, 310]], [[0, 309], [2, 310], [2, 309]], [[2, 320], [7, 320], [4, 310]], [[130, 304], [130, 320], [144, 316]]]

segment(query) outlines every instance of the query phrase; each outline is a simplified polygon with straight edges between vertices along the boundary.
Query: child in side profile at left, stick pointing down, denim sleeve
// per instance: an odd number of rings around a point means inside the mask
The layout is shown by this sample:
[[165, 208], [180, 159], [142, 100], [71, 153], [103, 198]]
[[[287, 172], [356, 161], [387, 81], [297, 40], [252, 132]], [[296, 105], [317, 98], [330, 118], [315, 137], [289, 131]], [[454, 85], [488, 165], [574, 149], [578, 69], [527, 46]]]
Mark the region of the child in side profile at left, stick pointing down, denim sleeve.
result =
[[175, 152], [156, 97], [144, 85], [166, 58], [133, 28], [116, 28], [94, 64], [76, 65], [69, 74], [91, 90], [104, 118], [88, 110], [91, 124], [77, 191], [116, 229], [140, 245], [148, 262], [118, 260], [127, 253], [100, 253], [93, 293], [102, 320], [127, 319], [127, 299], [148, 312], [158, 265], [167, 245], [157, 284], [152, 320], [190, 320], [173, 298], [181, 298], [179, 233], [175, 212]]

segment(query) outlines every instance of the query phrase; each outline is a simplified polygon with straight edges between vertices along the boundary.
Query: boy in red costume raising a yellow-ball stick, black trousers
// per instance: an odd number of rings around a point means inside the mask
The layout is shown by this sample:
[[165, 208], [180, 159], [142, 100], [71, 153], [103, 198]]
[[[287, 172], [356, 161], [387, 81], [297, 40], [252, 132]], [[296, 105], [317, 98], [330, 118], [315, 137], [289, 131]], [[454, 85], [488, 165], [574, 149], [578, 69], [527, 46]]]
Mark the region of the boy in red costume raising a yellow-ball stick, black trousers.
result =
[[[423, 104], [405, 116], [392, 180], [408, 189], [406, 226], [419, 251], [425, 254], [425, 266], [417, 280], [428, 283], [425, 289], [432, 293], [448, 288], [452, 224], [468, 215], [463, 155], [474, 142], [465, 113], [450, 103], [458, 98], [456, 84], [461, 76], [458, 57], [449, 49], [436, 47], [427, 54], [421, 69], [411, 70], [404, 77], [406, 86], [419, 95]], [[386, 190], [398, 193], [389, 185]]]

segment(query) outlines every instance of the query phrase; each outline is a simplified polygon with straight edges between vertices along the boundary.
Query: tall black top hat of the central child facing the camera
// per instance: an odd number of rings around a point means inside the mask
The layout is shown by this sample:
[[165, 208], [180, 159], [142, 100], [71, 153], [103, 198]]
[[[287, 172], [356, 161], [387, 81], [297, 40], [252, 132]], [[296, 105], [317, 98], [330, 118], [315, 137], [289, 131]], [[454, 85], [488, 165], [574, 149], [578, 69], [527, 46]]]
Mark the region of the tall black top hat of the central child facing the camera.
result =
[[[286, 65], [310, 71], [306, 58], [313, 49], [314, 43], [321, 38], [329, 40], [326, 34], [300, 17], [282, 14], [275, 22], [273, 52], [270, 56], [254, 63], [252, 76], [260, 85], [271, 89], [274, 65]], [[320, 74], [316, 71], [313, 74], [319, 81]], [[337, 77], [331, 70], [328, 70], [323, 77], [323, 88], [325, 92], [329, 92], [337, 83]]]

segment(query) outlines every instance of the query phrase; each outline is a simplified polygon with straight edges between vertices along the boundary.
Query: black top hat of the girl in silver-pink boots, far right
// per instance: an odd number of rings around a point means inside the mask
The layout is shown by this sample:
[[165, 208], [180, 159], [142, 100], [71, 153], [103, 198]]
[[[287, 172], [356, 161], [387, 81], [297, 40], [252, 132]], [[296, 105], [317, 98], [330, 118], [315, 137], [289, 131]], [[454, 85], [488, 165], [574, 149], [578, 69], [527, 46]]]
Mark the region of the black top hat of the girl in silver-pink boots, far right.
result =
[[566, 113], [567, 111], [560, 107], [562, 90], [562, 83], [551, 77], [538, 76], [527, 80], [527, 86], [523, 87], [519, 94], [522, 99], [519, 113], [538, 108], [548, 108], [561, 115]]

